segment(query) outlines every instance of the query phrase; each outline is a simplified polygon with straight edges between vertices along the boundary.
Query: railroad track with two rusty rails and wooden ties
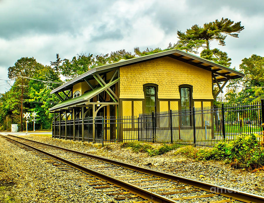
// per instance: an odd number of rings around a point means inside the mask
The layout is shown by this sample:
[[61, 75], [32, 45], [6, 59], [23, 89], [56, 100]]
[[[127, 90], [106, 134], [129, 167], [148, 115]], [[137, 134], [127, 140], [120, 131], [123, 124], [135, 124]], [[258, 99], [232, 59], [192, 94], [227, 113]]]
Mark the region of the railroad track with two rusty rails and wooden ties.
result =
[[[58, 166], [62, 166], [62, 170], [78, 169], [99, 178], [98, 180], [91, 179], [92, 184], [90, 185], [98, 190], [107, 191], [107, 195], [114, 196], [117, 200], [141, 197], [152, 202], [162, 203], [264, 203], [264, 197], [259, 195], [224, 188], [17, 136], [9, 135], [3, 137], [43, 153], [45, 156], [49, 156], [54, 159], [54, 161], [50, 162], [56, 162]], [[58, 161], [64, 165], [60, 165]]]

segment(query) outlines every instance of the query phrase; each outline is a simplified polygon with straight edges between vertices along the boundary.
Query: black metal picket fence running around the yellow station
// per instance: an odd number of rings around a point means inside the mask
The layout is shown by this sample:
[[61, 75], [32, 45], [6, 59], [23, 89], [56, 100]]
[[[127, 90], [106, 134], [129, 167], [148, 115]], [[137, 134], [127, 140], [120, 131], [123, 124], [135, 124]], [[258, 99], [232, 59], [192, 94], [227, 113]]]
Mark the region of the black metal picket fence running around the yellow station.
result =
[[[139, 117], [96, 117], [95, 142], [104, 145], [145, 141], [211, 147], [222, 140], [230, 142], [243, 133], [260, 135], [264, 122], [263, 102], [193, 107], [141, 114]], [[92, 117], [84, 118], [83, 129], [82, 119], [67, 120], [66, 125], [65, 120], [60, 121], [60, 125], [59, 121], [55, 125], [53, 122], [53, 137], [92, 142], [92, 122]]]

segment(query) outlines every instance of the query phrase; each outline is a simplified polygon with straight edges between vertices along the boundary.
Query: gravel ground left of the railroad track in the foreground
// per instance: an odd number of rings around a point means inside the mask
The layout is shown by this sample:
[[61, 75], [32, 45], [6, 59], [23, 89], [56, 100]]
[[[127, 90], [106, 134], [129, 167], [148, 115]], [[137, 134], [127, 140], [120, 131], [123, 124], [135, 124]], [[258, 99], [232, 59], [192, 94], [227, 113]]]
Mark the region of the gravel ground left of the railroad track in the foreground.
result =
[[[42, 137], [41, 137], [42, 138]], [[43, 141], [43, 139], [41, 139]], [[91, 177], [91, 176], [90, 176]], [[0, 202], [132, 202], [116, 201], [88, 185], [80, 171], [62, 171], [0, 137]]]

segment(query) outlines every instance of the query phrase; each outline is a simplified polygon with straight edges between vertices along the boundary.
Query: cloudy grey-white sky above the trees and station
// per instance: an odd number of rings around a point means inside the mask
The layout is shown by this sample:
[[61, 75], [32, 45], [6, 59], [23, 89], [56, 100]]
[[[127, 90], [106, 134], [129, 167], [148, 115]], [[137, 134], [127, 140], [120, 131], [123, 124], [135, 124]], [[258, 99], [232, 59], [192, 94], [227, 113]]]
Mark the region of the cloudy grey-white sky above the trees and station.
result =
[[[220, 3], [221, 2], [221, 3]], [[264, 1], [62, 1], [0, 0], [0, 93], [8, 90], [7, 69], [21, 57], [44, 65], [77, 53], [109, 53], [134, 47], [166, 48], [177, 30], [229, 18], [245, 29], [218, 47], [238, 70], [252, 54], [264, 56]]]

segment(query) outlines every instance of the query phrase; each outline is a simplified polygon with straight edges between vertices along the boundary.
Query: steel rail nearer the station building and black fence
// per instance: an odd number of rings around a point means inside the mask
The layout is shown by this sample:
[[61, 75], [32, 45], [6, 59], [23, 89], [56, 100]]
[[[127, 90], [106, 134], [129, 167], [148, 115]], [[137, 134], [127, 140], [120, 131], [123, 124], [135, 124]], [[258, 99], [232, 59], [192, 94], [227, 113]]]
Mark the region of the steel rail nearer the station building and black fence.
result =
[[[9, 135], [9, 136], [13, 136], [13, 135]], [[21, 138], [21, 137], [17, 137], [17, 136], [13, 136], [13, 137]], [[141, 173], [147, 173], [147, 174], [158, 176], [158, 177], [161, 177], [164, 179], [170, 179], [172, 181], [176, 181], [176, 182], [179, 182], [182, 184], [193, 185], [194, 187], [197, 187], [198, 189], [208, 191], [208, 192], [212, 192], [212, 193], [217, 194], [217, 195], [222, 195], [224, 197], [233, 198], [233, 199], [236, 199], [236, 200], [241, 201], [241, 202], [264, 203], [264, 197], [260, 196], [260, 195], [254, 195], [254, 194], [251, 194], [248, 192], [242, 192], [242, 191], [234, 190], [231, 188], [221, 187], [219, 185], [209, 184], [209, 183], [205, 183], [202, 181], [196, 181], [196, 180], [193, 180], [191, 178], [185, 178], [183, 176], [176, 176], [176, 175], [173, 175], [170, 173], [165, 173], [165, 172], [156, 171], [153, 169], [143, 168], [140, 166], [135, 166], [133, 164], [128, 164], [128, 163], [116, 161], [113, 159], [100, 157], [97, 155], [92, 155], [92, 154], [79, 152], [79, 151], [75, 151], [75, 150], [70, 150], [67, 148], [63, 148], [63, 147], [59, 147], [59, 146], [55, 146], [55, 145], [50, 145], [50, 144], [38, 142], [35, 140], [29, 140], [26, 138], [21, 138], [21, 139], [32, 141], [32, 142], [43, 144], [43, 145], [47, 145], [47, 146], [54, 147], [54, 148], [61, 149], [61, 150], [65, 150], [68, 152], [73, 152], [73, 153], [76, 153], [76, 154], [79, 154], [82, 156], [87, 156], [90, 158], [98, 159], [98, 160], [101, 160], [101, 161], [104, 161], [104, 162], [107, 162], [110, 164], [116, 164], [118, 166], [122, 166], [124, 168], [131, 169], [134, 171], [136, 170], [136, 171], [141, 172]]]

